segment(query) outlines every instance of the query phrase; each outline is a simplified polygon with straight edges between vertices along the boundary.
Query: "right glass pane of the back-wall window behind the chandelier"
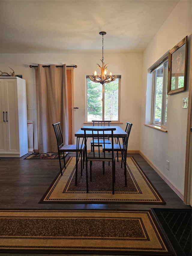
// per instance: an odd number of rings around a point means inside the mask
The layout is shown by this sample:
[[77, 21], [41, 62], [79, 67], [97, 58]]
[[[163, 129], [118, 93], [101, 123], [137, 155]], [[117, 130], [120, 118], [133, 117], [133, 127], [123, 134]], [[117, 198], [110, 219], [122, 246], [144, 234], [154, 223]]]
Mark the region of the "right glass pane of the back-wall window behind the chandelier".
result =
[[105, 84], [105, 120], [118, 121], [119, 79]]

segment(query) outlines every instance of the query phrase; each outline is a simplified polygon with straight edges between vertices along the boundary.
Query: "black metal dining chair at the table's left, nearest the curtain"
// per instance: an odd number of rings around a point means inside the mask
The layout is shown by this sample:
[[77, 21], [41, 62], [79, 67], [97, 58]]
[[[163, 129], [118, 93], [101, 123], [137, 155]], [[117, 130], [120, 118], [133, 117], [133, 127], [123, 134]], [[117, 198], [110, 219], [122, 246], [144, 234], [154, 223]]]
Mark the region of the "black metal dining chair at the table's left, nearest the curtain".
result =
[[63, 135], [61, 132], [61, 126], [60, 122], [57, 122], [55, 124], [52, 124], [54, 131], [55, 131], [55, 136], [57, 139], [57, 149], [58, 149], [58, 158], [59, 158], [59, 165], [60, 165], [60, 171], [62, 175], [62, 168], [61, 168], [61, 158], [60, 158], [60, 152], [63, 153], [63, 159], [64, 159], [64, 168], [66, 168], [65, 165], [65, 157], [64, 157], [64, 152], [76, 152], [76, 176], [75, 176], [75, 185], [77, 185], [77, 167], [78, 167], [78, 161], [79, 157], [81, 156], [81, 176], [82, 176], [82, 165], [84, 168], [84, 161], [82, 160], [82, 154], [84, 158], [84, 148], [85, 144], [79, 144], [79, 139], [76, 145], [64, 145], [63, 144]]

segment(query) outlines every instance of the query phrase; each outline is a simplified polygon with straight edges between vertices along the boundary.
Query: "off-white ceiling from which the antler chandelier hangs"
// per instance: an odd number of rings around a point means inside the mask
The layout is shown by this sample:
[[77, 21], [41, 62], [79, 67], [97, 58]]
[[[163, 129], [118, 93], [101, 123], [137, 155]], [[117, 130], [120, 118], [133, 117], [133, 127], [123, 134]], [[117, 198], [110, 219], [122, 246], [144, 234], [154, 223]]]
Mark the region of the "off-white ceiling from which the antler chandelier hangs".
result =
[[179, 1], [0, 1], [0, 53], [143, 52]]

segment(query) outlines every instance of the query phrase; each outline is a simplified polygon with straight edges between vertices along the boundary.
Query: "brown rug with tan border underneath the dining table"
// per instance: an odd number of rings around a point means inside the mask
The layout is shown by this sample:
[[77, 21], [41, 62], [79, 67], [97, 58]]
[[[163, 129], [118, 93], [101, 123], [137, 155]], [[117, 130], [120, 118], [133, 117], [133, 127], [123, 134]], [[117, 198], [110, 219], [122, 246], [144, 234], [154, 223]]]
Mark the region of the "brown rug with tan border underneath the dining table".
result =
[[116, 162], [114, 195], [112, 194], [112, 167], [108, 165], [108, 162], [105, 163], [105, 175], [103, 175], [102, 162], [93, 161], [92, 182], [89, 179], [89, 193], [86, 193], [85, 169], [81, 176], [80, 163], [77, 186], [75, 186], [75, 161], [75, 157], [69, 159], [63, 175], [58, 174], [40, 203], [165, 203], [133, 157], [127, 158], [127, 187], [125, 187], [121, 159]]

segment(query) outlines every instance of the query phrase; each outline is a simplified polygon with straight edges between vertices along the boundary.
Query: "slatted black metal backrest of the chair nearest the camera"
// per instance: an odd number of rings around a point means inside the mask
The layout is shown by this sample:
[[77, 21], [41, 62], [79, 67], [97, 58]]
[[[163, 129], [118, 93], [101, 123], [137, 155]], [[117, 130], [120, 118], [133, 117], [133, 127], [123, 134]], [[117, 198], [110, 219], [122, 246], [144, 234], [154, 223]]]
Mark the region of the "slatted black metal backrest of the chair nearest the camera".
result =
[[[95, 157], [95, 150], [94, 150], [94, 140], [96, 139], [97, 140], [97, 147], [98, 147], [98, 152], [99, 152], [99, 157], [100, 157], [100, 147], [102, 149], [102, 153], [104, 153], [104, 157], [105, 157], [105, 150], [103, 152], [103, 148], [102, 148], [102, 144], [100, 144], [100, 140], [104, 140], [104, 138], [107, 137], [110, 137], [111, 140], [112, 140], [112, 143], [111, 143], [111, 146], [112, 146], [112, 149], [111, 149], [111, 152], [112, 152], [112, 158], [113, 158], [113, 154], [114, 154], [114, 147], [113, 147], [113, 131], [116, 130], [115, 127], [113, 128], [81, 128], [82, 131], [84, 131], [84, 140], [85, 140], [85, 156], [87, 154], [87, 137], [86, 137], [86, 132], [88, 132], [89, 134], [91, 134], [91, 137], [93, 139], [93, 154], [94, 154], [94, 157]], [[104, 146], [104, 149], [105, 149], [105, 143], [103, 144]]]

